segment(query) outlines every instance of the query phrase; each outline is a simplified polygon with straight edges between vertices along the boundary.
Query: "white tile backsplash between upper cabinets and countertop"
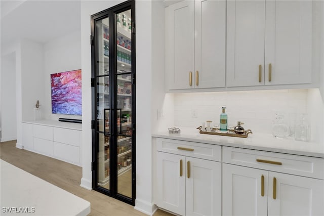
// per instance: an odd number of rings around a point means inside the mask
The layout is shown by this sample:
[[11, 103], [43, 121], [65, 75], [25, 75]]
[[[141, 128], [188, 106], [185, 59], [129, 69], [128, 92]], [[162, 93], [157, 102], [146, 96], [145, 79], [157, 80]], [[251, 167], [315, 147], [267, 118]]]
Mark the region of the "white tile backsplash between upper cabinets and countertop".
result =
[[212, 120], [219, 124], [222, 107], [226, 107], [229, 126], [242, 121], [246, 129], [258, 133], [272, 133], [275, 113], [284, 113], [294, 124], [295, 116], [307, 113], [307, 91], [267, 90], [213, 93], [174, 94], [175, 125], [198, 127]]

